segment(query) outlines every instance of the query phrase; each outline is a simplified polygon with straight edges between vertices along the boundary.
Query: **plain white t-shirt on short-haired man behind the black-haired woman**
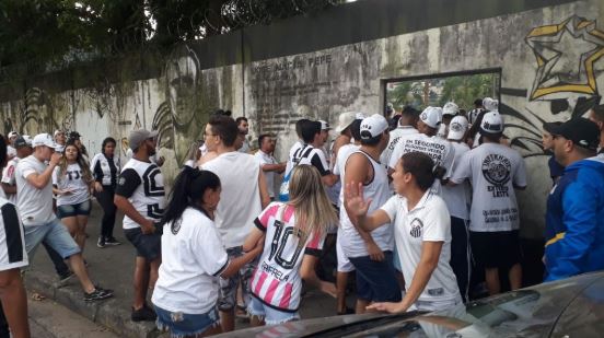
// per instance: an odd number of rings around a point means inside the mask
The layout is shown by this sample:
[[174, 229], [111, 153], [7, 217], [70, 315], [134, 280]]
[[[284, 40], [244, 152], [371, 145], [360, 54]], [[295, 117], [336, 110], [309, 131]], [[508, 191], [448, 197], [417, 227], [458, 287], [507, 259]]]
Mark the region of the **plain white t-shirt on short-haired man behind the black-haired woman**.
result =
[[216, 228], [226, 248], [241, 246], [263, 210], [258, 174], [260, 166], [251, 154], [231, 151], [201, 165], [220, 177], [222, 193]]

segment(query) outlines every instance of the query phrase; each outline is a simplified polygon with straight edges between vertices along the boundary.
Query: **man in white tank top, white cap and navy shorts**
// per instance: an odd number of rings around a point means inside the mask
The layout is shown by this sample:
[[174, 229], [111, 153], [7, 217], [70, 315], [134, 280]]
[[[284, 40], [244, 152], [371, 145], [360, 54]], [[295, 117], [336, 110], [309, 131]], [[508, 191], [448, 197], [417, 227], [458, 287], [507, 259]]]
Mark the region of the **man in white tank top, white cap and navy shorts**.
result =
[[[379, 162], [388, 143], [388, 123], [381, 115], [364, 118], [360, 127], [361, 148], [350, 154], [341, 172], [344, 185], [363, 184], [364, 196], [373, 200], [371, 211], [391, 196], [386, 168]], [[393, 229], [385, 225], [371, 233], [359, 229], [355, 211], [341, 195], [341, 248], [357, 270], [357, 313], [372, 302], [399, 302], [400, 288], [393, 265]], [[370, 212], [371, 212], [370, 211]]]

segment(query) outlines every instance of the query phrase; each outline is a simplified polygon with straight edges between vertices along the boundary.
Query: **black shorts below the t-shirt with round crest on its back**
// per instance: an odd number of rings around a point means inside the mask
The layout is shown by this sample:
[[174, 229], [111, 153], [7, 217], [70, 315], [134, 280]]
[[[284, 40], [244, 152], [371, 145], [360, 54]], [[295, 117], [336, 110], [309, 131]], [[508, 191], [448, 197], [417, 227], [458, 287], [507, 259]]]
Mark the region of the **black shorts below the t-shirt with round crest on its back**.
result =
[[469, 232], [472, 256], [484, 268], [511, 268], [520, 263], [520, 235], [518, 230], [497, 232]]

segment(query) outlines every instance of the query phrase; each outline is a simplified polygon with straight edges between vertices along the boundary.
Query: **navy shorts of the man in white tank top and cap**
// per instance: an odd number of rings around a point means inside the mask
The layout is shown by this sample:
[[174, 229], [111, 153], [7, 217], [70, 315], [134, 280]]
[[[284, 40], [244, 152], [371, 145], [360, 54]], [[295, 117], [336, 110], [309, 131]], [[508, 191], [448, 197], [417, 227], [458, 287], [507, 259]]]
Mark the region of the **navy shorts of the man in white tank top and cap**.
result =
[[392, 252], [384, 252], [384, 260], [369, 256], [349, 257], [357, 268], [357, 295], [371, 302], [400, 302], [400, 287], [396, 280]]

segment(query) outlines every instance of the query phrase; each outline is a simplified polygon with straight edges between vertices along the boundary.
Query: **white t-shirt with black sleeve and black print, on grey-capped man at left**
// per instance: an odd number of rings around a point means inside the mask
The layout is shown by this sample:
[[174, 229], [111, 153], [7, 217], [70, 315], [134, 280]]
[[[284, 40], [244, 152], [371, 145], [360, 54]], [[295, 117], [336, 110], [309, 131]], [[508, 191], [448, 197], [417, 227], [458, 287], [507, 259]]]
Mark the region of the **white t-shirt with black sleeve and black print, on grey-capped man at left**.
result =
[[[116, 195], [128, 201], [146, 219], [158, 222], [164, 212], [165, 190], [160, 167], [152, 162], [130, 159], [117, 179]], [[137, 229], [140, 224], [124, 215], [124, 229]]]

